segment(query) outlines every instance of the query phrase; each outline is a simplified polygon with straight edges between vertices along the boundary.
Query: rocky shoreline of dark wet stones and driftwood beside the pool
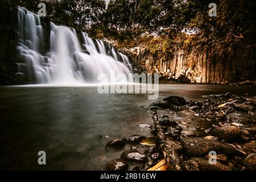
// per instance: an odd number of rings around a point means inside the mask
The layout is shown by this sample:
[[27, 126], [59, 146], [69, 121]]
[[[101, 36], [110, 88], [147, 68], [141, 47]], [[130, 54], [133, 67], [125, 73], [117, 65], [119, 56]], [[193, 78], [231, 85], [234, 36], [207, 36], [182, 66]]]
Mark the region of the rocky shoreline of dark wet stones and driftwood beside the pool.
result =
[[[110, 160], [106, 169], [119, 170], [256, 170], [256, 97], [240, 97], [231, 93], [203, 96], [204, 101], [185, 101], [170, 96], [163, 101], [143, 106], [152, 114], [154, 127], [141, 123], [138, 127], [151, 130], [154, 137], [133, 135], [110, 140], [106, 150], [122, 150]], [[168, 115], [158, 118], [158, 110], [193, 111], [210, 123], [204, 133], [183, 135], [178, 121]], [[139, 149], [139, 150], [138, 150]], [[213, 153], [212, 153], [213, 152]], [[213, 156], [213, 154], [216, 154]], [[212, 164], [211, 162], [214, 162]]]

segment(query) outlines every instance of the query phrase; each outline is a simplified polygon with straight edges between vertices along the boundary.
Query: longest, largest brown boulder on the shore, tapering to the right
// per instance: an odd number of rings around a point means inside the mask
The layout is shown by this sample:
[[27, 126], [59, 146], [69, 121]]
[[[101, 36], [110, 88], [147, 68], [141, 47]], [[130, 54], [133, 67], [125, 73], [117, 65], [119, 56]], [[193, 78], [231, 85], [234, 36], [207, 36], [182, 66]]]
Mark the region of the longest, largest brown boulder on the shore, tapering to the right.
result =
[[188, 157], [204, 157], [210, 151], [216, 151], [217, 154], [225, 154], [226, 156], [242, 155], [240, 151], [229, 144], [203, 138], [184, 138], [181, 140], [181, 144]]

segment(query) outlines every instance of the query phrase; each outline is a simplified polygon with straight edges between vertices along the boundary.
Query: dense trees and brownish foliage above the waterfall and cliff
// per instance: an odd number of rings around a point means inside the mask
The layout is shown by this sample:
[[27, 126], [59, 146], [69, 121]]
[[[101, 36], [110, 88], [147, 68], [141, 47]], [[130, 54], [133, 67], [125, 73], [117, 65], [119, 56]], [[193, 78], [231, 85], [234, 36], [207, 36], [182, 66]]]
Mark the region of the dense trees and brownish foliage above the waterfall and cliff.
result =
[[[256, 2], [250, 0], [1, 0], [38, 11], [46, 3], [53, 22], [115, 40], [118, 47], [146, 44], [158, 56], [170, 57], [177, 47], [210, 47], [214, 53], [240, 44], [256, 45]], [[217, 16], [208, 15], [216, 3]], [[187, 34], [187, 33], [190, 34]]]

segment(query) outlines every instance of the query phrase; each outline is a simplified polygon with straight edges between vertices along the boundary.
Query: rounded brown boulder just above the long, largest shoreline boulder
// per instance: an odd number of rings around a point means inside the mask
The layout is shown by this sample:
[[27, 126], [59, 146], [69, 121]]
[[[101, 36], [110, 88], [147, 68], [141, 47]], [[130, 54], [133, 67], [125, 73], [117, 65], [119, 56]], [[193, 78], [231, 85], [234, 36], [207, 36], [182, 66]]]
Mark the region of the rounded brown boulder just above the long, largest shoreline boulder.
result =
[[211, 131], [211, 133], [212, 133], [212, 135], [214, 135], [218, 138], [222, 138], [226, 141], [233, 141], [236, 139], [240, 139], [241, 135], [242, 135], [242, 132], [236, 126], [217, 127], [217, 128], [214, 128]]

